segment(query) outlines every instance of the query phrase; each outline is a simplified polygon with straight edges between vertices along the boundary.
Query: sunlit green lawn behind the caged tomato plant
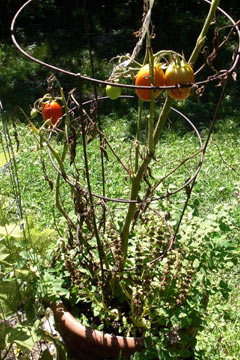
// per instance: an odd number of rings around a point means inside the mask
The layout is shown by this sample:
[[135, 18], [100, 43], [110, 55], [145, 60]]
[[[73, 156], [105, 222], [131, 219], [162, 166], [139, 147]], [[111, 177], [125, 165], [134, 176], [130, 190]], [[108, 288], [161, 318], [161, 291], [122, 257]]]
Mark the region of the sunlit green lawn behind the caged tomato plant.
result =
[[[103, 117], [103, 127], [111, 145], [123, 159], [130, 165], [131, 129], [136, 121], [136, 114], [131, 110], [130, 118], [123, 114], [118, 118], [114, 112], [109, 116]], [[170, 126], [171, 125], [171, 126]], [[20, 140], [20, 150], [16, 155], [17, 167], [19, 172], [21, 195], [23, 200], [24, 212], [37, 219], [41, 228], [53, 228], [54, 219], [52, 211], [55, 207], [54, 192], [49, 191], [49, 185], [44, 180], [41, 170], [40, 151], [36, 145], [33, 134], [26, 124], [17, 124], [18, 136]], [[12, 132], [12, 129], [11, 129]], [[120, 136], [118, 135], [120, 134]], [[201, 130], [203, 140], [206, 138], [207, 128]], [[79, 140], [79, 143], [81, 140]], [[190, 206], [194, 202], [198, 203], [199, 216], [206, 219], [207, 216], [214, 216], [216, 209], [221, 208], [232, 217], [231, 231], [228, 236], [237, 242], [240, 218], [240, 160], [239, 160], [239, 123], [236, 119], [229, 118], [227, 121], [219, 121], [212, 135], [211, 142], [206, 153], [204, 165], [198, 176], [197, 183], [193, 190]], [[62, 146], [61, 138], [53, 139], [55, 149], [59, 150]], [[91, 169], [91, 179], [93, 191], [101, 192], [101, 172], [99, 171], [99, 141], [95, 139], [89, 147], [88, 156]], [[169, 124], [159, 146], [157, 160], [154, 166], [153, 175], [156, 178], [162, 177], [166, 171], [176, 167], [182, 159], [194, 154], [199, 149], [198, 139], [195, 134], [184, 127], [180, 119]], [[43, 158], [46, 161], [47, 173], [51, 180], [54, 180], [55, 171], [49, 165], [46, 148], [42, 150]], [[77, 157], [79, 167], [83, 167], [83, 154], [78, 149]], [[186, 162], [186, 164], [176, 171], [158, 189], [157, 194], [167, 188], [174, 190], [191, 176], [193, 169], [198, 164], [198, 158]], [[73, 171], [68, 167], [68, 171]], [[84, 171], [81, 181], [86, 186]], [[106, 161], [106, 192], [112, 197], [128, 197], [126, 192], [126, 180], [119, 164], [110, 155]], [[8, 177], [1, 178], [0, 193], [11, 196], [8, 185]], [[85, 183], [84, 183], [85, 181]], [[165, 190], [163, 190], [165, 189]], [[177, 195], [179, 205], [185, 198], [184, 192]], [[70, 206], [69, 193], [67, 188], [63, 189], [62, 199], [64, 205]], [[171, 207], [171, 200], [165, 200]], [[179, 206], [178, 205], [178, 206]], [[71, 210], [71, 209], [69, 209]], [[64, 220], [61, 215], [56, 216], [58, 226], [64, 228]], [[240, 246], [238, 244], [239, 255]], [[240, 353], [240, 290], [239, 284], [239, 265], [229, 264], [228, 272], [219, 269], [219, 273], [213, 274], [216, 280], [221, 277], [228, 282], [231, 289], [228, 299], [216, 296], [210, 297], [210, 303], [206, 313], [206, 326], [198, 336], [196, 348], [196, 359], [218, 359], [236, 360]]]

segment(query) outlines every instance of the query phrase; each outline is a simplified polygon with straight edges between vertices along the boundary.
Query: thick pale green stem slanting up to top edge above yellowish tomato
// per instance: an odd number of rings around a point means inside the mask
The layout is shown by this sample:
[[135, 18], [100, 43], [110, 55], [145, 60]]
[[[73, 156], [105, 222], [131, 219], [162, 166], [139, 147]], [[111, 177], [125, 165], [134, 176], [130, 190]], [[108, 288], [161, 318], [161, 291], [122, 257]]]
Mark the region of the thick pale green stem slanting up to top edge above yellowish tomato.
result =
[[210, 9], [209, 9], [209, 12], [208, 12], [208, 16], [206, 17], [206, 20], [205, 20], [205, 23], [203, 25], [203, 28], [202, 28], [202, 31], [197, 39], [197, 42], [196, 42], [196, 45], [195, 45], [195, 48], [192, 52], [192, 55], [190, 56], [189, 58], [189, 63], [190, 64], [194, 64], [195, 61], [197, 60], [198, 58], [198, 55], [206, 41], [206, 35], [207, 35], [207, 32], [208, 32], [208, 29], [209, 29], [209, 26], [211, 25], [211, 22], [212, 22], [212, 19], [214, 17], [214, 14], [217, 10], [217, 7], [220, 3], [220, 0], [212, 0], [211, 2], [211, 6], [210, 6]]

